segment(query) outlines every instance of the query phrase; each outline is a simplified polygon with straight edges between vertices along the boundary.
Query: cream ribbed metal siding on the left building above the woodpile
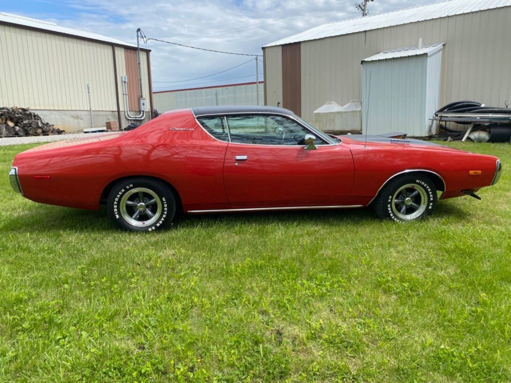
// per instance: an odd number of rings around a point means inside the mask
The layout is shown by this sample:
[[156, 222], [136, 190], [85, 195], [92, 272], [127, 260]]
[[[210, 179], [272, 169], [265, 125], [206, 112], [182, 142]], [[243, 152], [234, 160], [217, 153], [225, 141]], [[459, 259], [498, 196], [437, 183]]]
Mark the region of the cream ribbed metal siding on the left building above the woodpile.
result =
[[111, 45], [0, 25], [0, 104], [117, 110]]

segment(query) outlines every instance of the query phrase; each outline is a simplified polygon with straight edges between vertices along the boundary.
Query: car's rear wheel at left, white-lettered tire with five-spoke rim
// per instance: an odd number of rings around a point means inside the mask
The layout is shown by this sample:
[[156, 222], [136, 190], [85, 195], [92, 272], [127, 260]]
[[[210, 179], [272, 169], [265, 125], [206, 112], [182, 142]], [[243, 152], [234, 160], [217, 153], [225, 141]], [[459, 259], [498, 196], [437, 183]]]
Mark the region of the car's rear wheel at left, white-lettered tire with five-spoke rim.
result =
[[172, 222], [176, 200], [163, 182], [149, 178], [129, 178], [115, 184], [108, 195], [108, 216], [122, 229], [153, 231]]

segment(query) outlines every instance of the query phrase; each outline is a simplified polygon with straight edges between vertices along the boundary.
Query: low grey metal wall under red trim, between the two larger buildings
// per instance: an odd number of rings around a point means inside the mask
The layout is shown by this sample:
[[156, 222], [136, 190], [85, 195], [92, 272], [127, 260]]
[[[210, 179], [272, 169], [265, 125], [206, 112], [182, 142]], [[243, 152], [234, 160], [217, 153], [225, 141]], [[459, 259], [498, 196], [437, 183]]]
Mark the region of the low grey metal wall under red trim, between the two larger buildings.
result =
[[[159, 113], [194, 106], [257, 105], [257, 90], [255, 84], [184, 89], [153, 93], [153, 99]], [[264, 105], [262, 82], [259, 83], [259, 105]]]

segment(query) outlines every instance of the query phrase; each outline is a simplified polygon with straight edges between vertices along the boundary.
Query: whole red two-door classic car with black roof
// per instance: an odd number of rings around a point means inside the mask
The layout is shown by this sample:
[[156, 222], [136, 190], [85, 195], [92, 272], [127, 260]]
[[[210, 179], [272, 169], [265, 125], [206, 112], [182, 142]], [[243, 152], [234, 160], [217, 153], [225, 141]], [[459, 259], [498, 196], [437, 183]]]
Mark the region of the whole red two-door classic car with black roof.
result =
[[[165, 113], [130, 132], [20, 153], [11, 184], [26, 198], [96, 210], [133, 231], [185, 213], [362, 207], [414, 221], [437, 198], [495, 184], [498, 158], [431, 142], [328, 135], [274, 107]], [[437, 195], [439, 194], [439, 196]]]

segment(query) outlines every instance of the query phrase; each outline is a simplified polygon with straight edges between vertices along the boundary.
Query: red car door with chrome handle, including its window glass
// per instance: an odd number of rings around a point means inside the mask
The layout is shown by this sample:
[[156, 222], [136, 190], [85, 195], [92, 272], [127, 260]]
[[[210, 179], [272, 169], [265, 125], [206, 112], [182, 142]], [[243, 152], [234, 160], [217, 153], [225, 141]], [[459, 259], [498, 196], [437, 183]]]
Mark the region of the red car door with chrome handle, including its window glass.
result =
[[230, 142], [223, 175], [233, 207], [343, 205], [354, 177], [351, 151], [316, 139], [296, 121], [276, 115], [227, 116]]

